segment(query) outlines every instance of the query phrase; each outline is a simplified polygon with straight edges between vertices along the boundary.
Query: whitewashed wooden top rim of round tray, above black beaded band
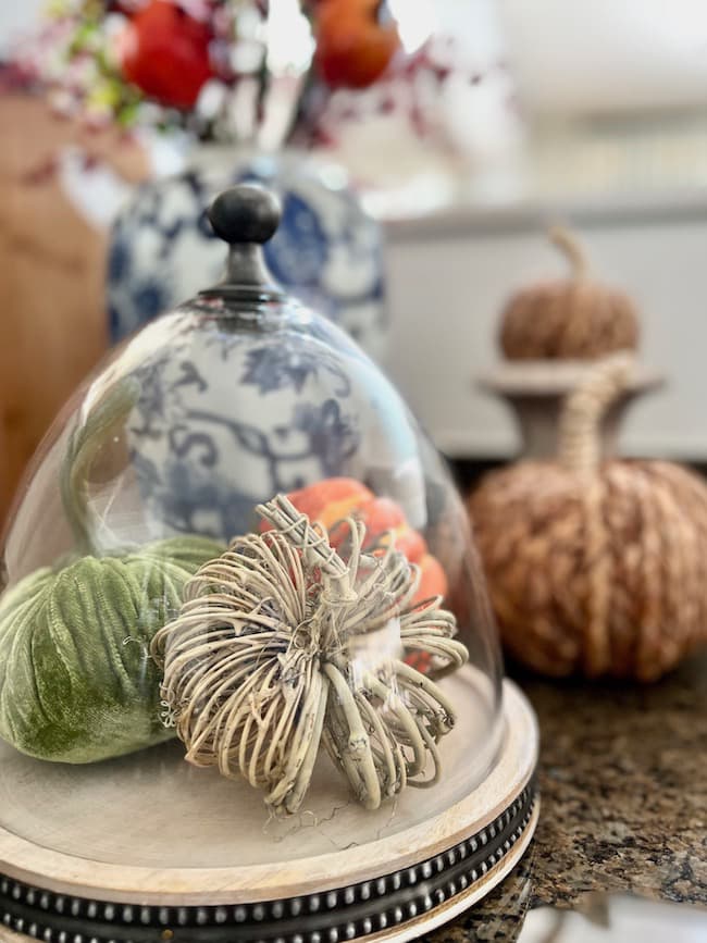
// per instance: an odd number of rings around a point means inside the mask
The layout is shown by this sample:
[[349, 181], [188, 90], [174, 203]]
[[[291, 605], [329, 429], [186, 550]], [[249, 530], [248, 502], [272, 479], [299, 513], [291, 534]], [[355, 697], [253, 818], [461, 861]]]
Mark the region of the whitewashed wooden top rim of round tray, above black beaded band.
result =
[[59, 894], [164, 906], [249, 904], [365, 881], [445, 852], [489, 824], [530, 782], [539, 734], [525, 696], [506, 679], [504, 740], [495, 766], [443, 812], [374, 842], [281, 865], [220, 868], [122, 866], [45, 848], [0, 827], [0, 872]]

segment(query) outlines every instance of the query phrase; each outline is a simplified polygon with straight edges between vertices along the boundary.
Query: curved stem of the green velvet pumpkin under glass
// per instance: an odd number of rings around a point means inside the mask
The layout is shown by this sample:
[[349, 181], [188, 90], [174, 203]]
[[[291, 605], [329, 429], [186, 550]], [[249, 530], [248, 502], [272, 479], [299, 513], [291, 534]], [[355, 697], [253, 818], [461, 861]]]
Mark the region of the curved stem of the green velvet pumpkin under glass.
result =
[[79, 420], [71, 434], [60, 472], [60, 489], [76, 550], [82, 554], [99, 554], [96, 528], [88, 507], [87, 482], [91, 464], [116, 427], [125, 422], [139, 395], [140, 384], [137, 380], [116, 383], [90, 410], [86, 420], [83, 423]]

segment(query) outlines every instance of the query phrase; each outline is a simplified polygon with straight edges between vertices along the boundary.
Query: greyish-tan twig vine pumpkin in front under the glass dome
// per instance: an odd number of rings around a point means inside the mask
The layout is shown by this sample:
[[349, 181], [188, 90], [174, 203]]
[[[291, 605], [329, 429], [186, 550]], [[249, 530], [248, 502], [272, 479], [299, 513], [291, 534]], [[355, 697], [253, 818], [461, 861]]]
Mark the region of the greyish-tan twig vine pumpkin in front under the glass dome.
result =
[[[206, 563], [152, 645], [187, 760], [244, 777], [286, 812], [300, 807], [321, 744], [369, 809], [433, 785], [455, 709], [430, 675], [468, 659], [454, 616], [439, 597], [412, 603], [418, 568], [390, 542], [363, 553], [360, 521], [342, 524], [345, 561], [282, 495], [258, 512], [273, 530]], [[430, 674], [404, 662], [418, 650], [432, 656]]]

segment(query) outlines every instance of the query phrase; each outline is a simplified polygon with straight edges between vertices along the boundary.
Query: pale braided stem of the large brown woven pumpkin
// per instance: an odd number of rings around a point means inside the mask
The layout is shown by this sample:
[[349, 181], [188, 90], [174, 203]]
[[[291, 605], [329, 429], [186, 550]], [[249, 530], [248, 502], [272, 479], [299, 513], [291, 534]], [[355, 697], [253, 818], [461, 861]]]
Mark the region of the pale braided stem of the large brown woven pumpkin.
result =
[[559, 420], [558, 461], [568, 471], [592, 474], [601, 462], [601, 420], [627, 387], [635, 358], [620, 351], [588, 371], [570, 393]]

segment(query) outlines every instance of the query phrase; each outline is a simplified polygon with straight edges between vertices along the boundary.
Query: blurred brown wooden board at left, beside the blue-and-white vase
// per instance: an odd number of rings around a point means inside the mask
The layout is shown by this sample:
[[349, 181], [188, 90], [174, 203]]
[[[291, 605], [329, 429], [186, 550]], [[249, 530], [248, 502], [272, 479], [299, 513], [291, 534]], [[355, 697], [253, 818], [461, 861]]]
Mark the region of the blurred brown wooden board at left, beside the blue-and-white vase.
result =
[[123, 176], [147, 172], [141, 150], [90, 133], [44, 101], [0, 97], [0, 518], [51, 420], [107, 345], [107, 236], [82, 218], [55, 173], [79, 147]]

